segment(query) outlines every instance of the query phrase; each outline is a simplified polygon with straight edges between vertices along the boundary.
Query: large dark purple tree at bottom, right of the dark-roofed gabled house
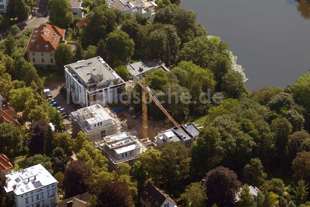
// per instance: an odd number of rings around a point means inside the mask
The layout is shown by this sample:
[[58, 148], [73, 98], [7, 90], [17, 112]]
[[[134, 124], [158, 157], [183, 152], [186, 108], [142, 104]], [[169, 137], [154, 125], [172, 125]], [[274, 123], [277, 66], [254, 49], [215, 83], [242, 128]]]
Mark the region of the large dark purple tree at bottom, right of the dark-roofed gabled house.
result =
[[237, 174], [234, 171], [219, 166], [208, 172], [205, 186], [210, 205], [215, 203], [219, 207], [232, 206], [241, 187], [241, 182], [237, 179]]

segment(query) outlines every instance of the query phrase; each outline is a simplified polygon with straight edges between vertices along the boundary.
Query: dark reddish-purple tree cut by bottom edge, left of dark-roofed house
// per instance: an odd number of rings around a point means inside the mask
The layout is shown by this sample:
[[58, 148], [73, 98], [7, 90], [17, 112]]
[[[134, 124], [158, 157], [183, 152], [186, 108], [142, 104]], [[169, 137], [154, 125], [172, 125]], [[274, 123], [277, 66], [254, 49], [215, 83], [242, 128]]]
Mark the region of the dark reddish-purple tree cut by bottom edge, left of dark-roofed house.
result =
[[96, 207], [132, 206], [133, 200], [126, 185], [119, 181], [105, 181], [100, 187]]

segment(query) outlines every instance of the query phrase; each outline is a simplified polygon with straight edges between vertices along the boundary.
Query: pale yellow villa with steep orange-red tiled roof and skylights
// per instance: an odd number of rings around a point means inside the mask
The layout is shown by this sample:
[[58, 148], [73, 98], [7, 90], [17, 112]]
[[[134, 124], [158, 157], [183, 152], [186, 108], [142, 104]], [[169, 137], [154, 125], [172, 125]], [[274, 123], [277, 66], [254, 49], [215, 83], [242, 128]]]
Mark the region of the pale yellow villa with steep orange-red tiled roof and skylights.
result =
[[54, 52], [58, 44], [64, 41], [65, 32], [65, 29], [51, 24], [34, 28], [26, 48], [28, 62], [44, 68], [55, 67]]

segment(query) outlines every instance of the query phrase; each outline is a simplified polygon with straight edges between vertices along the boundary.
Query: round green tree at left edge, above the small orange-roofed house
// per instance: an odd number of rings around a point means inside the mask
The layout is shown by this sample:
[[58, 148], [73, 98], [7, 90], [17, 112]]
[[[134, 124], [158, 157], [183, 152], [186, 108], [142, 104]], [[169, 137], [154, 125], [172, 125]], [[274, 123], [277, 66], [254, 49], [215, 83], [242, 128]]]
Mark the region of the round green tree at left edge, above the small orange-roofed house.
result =
[[11, 123], [0, 124], [0, 152], [7, 157], [17, 156], [21, 152], [23, 139], [17, 126]]

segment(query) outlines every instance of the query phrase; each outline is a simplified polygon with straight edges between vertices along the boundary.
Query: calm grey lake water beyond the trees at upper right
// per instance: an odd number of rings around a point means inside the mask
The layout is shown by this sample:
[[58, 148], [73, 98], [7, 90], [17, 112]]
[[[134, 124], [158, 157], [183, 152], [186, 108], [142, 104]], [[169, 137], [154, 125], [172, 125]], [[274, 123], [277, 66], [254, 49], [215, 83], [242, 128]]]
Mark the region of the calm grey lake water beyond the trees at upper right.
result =
[[249, 91], [293, 84], [310, 68], [306, 0], [181, 0], [208, 35], [220, 36], [245, 68]]

